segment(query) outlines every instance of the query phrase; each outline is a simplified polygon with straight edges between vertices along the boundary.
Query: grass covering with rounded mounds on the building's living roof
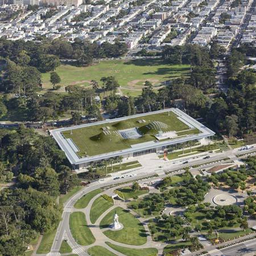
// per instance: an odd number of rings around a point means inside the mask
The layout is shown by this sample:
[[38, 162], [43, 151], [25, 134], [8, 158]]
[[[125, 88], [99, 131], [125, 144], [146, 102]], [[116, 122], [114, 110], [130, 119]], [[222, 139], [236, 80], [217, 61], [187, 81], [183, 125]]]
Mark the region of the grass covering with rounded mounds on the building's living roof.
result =
[[[141, 121], [144, 122], [141, 122]], [[142, 137], [137, 139], [123, 138], [118, 134], [119, 130], [137, 127]], [[80, 149], [79, 156], [94, 156], [124, 150], [133, 144], [156, 141], [154, 135], [159, 130], [164, 131], [184, 131], [189, 127], [181, 122], [175, 113], [163, 112], [158, 114], [144, 115], [143, 117], [129, 118], [124, 121], [92, 125], [79, 129], [63, 131], [65, 138], [71, 138]], [[191, 130], [187, 132], [190, 133]], [[195, 129], [197, 133], [197, 129]]]

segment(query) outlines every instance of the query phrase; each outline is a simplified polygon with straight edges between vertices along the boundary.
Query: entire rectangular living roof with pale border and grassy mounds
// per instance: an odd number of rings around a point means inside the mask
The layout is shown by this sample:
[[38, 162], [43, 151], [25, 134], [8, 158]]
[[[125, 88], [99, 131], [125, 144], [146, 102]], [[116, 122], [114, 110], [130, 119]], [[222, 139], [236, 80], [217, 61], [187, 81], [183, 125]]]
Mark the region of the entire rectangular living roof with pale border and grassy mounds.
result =
[[72, 164], [214, 135], [213, 131], [174, 108], [50, 132]]

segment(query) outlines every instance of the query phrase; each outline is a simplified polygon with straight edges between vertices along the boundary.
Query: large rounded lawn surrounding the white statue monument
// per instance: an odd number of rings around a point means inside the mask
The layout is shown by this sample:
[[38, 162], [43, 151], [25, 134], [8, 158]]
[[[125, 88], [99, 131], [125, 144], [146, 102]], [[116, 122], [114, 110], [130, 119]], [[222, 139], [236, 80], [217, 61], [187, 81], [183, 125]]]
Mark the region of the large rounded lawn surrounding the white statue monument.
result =
[[123, 225], [123, 229], [117, 231], [106, 230], [104, 232], [105, 236], [114, 241], [126, 243], [127, 245], [143, 245], [146, 243], [147, 235], [141, 222], [127, 210], [120, 207], [106, 214], [100, 223], [100, 227], [108, 228], [113, 223], [115, 212], [119, 216], [119, 222]]

